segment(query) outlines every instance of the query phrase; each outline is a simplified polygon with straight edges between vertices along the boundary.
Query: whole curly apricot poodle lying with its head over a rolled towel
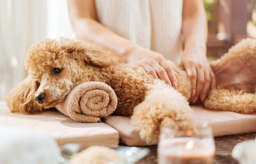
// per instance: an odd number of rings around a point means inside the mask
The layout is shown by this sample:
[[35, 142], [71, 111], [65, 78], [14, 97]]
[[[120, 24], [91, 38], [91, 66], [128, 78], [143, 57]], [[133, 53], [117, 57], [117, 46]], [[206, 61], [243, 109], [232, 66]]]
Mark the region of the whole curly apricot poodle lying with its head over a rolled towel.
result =
[[[221, 59], [211, 63], [217, 90], [205, 101], [209, 109], [249, 113], [256, 109], [255, 39], [232, 47]], [[178, 90], [154, 79], [130, 64], [119, 63], [116, 56], [82, 41], [46, 39], [30, 47], [26, 55], [29, 77], [20, 82], [7, 98], [11, 112], [42, 112], [64, 101], [73, 87], [83, 82], [105, 82], [115, 90], [118, 106], [113, 114], [132, 116], [132, 124], [148, 144], [157, 141], [165, 122], [193, 121], [188, 99], [189, 77], [183, 68], [168, 61], [177, 72]], [[189, 122], [189, 123], [186, 123]]]

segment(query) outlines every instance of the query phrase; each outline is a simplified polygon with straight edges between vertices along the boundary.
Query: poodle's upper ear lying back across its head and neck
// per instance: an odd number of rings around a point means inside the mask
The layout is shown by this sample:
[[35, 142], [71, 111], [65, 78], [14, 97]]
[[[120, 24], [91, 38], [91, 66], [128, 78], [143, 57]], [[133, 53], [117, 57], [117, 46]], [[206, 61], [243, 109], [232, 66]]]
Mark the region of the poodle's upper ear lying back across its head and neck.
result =
[[110, 66], [119, 63], [118, 57], [110, 51], [102, 50], [94, 44], [89, 44], [80, 40], [61, 38], [61, 48], [69, 53], [71, 58], [85, 60], [94, 66]]

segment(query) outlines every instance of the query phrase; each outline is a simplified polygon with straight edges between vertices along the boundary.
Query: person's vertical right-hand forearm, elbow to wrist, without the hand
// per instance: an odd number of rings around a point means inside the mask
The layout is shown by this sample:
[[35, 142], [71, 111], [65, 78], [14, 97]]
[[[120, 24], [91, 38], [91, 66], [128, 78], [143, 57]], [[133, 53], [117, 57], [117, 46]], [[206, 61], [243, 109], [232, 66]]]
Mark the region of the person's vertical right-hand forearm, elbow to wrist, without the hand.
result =
[[[206, 51], [208, 37], [207, 20], [204, 11], [197, 11], [183, 19], [183, 35], [185, 50]], [[205, 55], [205, 54], [204, 54]]]

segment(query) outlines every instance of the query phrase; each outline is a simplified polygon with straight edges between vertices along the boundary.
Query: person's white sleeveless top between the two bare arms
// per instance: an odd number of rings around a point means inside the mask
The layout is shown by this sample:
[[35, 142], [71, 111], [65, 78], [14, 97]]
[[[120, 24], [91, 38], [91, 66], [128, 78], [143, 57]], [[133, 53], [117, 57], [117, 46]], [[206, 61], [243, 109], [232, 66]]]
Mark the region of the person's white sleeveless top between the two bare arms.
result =
[[183, 0], [95, 0], [99, 23], [180, 63]]

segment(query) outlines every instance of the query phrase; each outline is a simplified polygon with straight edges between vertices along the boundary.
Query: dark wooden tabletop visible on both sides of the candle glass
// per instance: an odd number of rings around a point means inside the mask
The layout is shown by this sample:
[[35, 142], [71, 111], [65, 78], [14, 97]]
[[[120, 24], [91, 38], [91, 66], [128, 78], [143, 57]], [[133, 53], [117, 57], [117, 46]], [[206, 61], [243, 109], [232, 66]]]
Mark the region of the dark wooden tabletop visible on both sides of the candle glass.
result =
[[[255, 139], [255, 133], [240, 133], [228, 136], [215, 137], [215, 162], [214, 164], [238, 164], [231, 156], [233, 147], [238, 142]], [[151, 153], [138, 161], [137, 164], [157, 164], [157, 146], [149, 146]]]

